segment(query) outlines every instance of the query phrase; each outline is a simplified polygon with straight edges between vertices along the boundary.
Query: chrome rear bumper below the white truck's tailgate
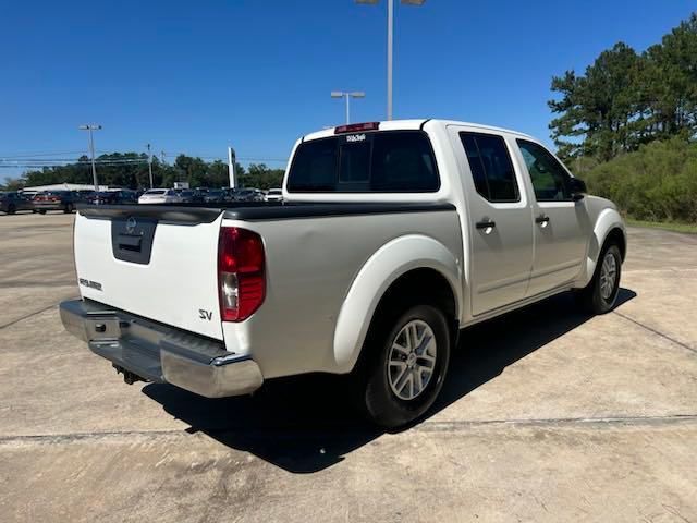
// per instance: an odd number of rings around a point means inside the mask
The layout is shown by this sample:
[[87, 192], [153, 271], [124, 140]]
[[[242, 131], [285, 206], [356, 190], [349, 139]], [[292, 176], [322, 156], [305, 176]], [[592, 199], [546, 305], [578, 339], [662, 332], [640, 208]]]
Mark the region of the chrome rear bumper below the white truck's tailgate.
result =
[[247, 394], [264, 382], [248, 356], [203, 338], [90, 300], [60, 305], [65, 329], [117, 367], [207, 398]]

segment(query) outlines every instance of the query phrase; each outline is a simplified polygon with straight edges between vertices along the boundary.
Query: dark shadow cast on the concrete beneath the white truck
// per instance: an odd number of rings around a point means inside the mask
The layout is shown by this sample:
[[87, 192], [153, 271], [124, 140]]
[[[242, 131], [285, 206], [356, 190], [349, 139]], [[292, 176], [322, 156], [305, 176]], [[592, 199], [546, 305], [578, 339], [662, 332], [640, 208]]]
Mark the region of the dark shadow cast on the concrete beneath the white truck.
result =
[[[621, 289], [617, 306], [635, 296]], [[565, 293], [464, 330], [426, 419], [588, 319]], [[270, 380], [252, 397], [219, 400], [169, 385], [152, 384], [143, 391], [187, 423], [192, 434], [204, 433], [289, 472], [313, 473], [384, 434], [352, 409], [345, 385], [341, 377], [309, 375]]]

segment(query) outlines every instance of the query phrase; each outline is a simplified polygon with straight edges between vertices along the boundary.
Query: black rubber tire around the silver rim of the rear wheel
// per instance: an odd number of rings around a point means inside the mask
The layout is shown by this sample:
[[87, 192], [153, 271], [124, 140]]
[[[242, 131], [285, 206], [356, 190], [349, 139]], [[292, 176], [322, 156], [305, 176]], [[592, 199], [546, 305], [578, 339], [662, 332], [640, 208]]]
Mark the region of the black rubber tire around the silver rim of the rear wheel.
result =
[[[384, 307], [384, 309], [371, 326], [364, 346], [362, 369], [357, 378], [358, 392], [360, 394], [360, 403], [372, 422], [386, 428], [399, 428], [418, 419], [436, 401], [443, 387], [448, 372], [452, 336], [445, 315], [436, 306], [413, 305], [402, 308]], [[424, 325], [430, 328], [436, 342], [436, 360], [430, 377], [425, 378], [420, 374], [421, 379], [425, 380], [425, 386], [420, 393], [413, 399], [400, 398], [393, 390], [393, 387], [400, 385], [400, 380], [395, 379], [394, 376], [391, 378], [389, 374], [394, 368], [394, 363], [400, 362], [394, 362], [393, 360], [393, 365], [388, 365], [391, 353], [393, 357], [398, 354], [392, 352], [392, 345], [398, 340], [398, 337], [403, 335], [402, 331], [407, 325], [417, 326], [417, 329], [420, 326], [424, 329], [421, 331], [421, 336], [425, 336], [424, 342], [419, 345], [423, 351], [421, 354], [427, 350], [425, 349], [425, 342], [427, 344], [427, 339], [430, 339]], [[417, 356], [418, 350], [416, 349], [414, 356], [409, 356], [413, 357], [411, 365], [419, 363], [419, 360], [420, 363], [428, 363]], [[404, 365], [407, 365], [407, 356], [404, 357]], [[416, 365], [415, 367], [405, 367], [403, 370], [404, 373], [413, 373], [411, 379], [407, 376], [407, 381], [412, 387], [411, 393], [414, 393], [414, 387], [417, 387], [414, 385], [416, 379], [414, 376], [416, 376], [418, 368], [418, 365]], [[424, 370], [424, 373], [427, 372]], [[399, 373], [399, 368], [396, 373]], [[396, 381], [396, 384], [391, 385], [391, 380]], [[404, 389], [402, 392], [404, 393]], [[406, 396], [408, 396], [408, 392]]]

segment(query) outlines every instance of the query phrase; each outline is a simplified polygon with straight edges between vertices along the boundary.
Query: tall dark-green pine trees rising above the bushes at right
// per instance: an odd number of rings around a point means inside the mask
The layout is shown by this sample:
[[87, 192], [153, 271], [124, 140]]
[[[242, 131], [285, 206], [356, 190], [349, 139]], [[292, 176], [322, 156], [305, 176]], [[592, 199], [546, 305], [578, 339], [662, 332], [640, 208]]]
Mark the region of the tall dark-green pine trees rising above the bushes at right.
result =
[[563, 159], [608, 161], [656, 139], [697, 136], [697, 14], [637, 53], [624, 42], [584, 74], [552, 78], [552, 138]]

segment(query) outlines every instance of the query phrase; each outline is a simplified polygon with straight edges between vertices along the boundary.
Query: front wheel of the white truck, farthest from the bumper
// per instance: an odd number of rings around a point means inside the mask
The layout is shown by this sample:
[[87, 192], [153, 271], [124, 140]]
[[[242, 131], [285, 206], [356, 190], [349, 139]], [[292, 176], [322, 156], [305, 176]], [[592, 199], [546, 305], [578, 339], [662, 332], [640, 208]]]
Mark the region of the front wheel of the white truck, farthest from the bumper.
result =
[[610, 244], [602, 250], [590, 283], [579, 292], [580, 303], [591, 314], [606, 314], [614, 308], [620, 293], [622, 254]]

